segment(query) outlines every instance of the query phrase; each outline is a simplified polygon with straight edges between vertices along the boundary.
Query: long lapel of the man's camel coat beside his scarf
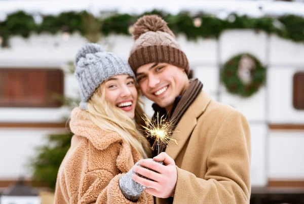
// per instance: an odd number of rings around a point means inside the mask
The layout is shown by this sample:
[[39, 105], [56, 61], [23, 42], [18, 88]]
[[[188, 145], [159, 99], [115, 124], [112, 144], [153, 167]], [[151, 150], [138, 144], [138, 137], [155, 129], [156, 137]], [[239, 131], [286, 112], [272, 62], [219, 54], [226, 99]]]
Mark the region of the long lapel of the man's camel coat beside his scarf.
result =
[[210, 101], [211, 98], [202, 90], [183, 114], [175, 128], [175, 132], [172, 134], [172, 138], [177, 140], [178, 145], [170, 142], [165, 151], [171, 158], [175, 159], [177, 157], [197, 125], [197, 118], [204, 113]]

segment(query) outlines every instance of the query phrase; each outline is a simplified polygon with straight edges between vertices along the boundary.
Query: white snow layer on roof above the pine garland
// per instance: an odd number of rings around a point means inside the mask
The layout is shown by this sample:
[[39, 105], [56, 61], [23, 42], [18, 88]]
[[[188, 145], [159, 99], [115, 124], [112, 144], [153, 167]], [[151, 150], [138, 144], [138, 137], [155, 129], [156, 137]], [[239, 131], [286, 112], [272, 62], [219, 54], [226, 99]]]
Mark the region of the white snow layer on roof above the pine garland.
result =
[[59, 4], [54, 0], [10, 0], [0, 1], [0, 21], [5, 20], [8, 14], [19, 10], [42, 15], [58, 15], [61, 12], [87, 10], [98, 16], [100, 11], [140, 14], [153, 9], [163, 10], [171, 14], [177, 14], [180, 11], [205, 12], [215, 14], [220, 18], [225, 18], [230, 13], [251, 17], [286, 14], [304, 16], [304, 3], [273, 0], [61, 0]]

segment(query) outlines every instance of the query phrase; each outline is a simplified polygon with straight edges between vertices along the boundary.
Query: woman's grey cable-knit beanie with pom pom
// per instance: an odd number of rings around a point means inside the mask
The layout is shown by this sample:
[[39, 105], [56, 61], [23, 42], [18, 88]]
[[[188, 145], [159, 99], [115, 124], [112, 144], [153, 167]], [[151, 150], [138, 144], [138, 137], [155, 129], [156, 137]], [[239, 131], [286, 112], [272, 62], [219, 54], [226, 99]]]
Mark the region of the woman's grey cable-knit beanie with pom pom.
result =
[[75, 56], [74, 75], [79, 82], [80, 107], [87, 110], [87, 102], [99, 85], [111, 76], [128, 74], [135, 80], [134, 72], [128, 63], [117, 55], [106, 52], [98, 44], [89, 43]]

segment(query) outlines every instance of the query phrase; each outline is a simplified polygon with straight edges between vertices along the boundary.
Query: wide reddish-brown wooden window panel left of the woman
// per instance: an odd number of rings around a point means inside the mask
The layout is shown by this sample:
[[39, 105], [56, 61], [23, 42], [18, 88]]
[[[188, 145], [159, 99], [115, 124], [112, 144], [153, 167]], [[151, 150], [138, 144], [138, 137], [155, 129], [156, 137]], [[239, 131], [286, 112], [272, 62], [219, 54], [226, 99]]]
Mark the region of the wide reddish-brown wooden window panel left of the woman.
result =
[[0, 69], [0, 107], [60, 107], [63, 72], [60, 69]]

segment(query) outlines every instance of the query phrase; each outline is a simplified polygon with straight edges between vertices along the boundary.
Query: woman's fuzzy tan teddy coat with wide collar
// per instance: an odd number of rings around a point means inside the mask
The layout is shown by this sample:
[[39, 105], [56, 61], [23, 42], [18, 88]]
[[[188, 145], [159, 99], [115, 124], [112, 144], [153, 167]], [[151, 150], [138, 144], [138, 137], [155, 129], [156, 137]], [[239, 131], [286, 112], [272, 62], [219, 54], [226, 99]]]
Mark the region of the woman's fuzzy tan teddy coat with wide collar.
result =
[[[119, 187], [119, 178], [142, 158], [114, 132], [98, 128], [87, 112], [71, 112], [71, 146], [58, 171], [55, 203], [134, 203]], [[154, 203], [145, 191], [137, 203]]]

